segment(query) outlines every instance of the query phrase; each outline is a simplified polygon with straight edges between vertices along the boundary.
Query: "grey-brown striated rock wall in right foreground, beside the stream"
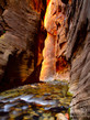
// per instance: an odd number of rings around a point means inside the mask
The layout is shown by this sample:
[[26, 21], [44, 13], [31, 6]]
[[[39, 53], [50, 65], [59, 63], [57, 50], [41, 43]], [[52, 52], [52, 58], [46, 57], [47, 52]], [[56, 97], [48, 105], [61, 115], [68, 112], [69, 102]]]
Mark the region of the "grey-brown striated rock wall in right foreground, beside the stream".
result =
[[75, 0], [68, 17], [66, 58], [71, 62], [74, 120], [90, 119], [90, 1]]

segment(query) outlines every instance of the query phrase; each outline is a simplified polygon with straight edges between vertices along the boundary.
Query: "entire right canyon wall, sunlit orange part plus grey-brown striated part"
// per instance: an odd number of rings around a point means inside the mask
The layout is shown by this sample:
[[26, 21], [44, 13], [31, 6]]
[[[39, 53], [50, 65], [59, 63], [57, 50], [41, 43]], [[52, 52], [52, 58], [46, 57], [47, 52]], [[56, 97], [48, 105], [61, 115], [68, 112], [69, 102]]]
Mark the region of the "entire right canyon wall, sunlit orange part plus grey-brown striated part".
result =
[[72, 120], [89, 120], [90, 0], [50, 0], [44, 22], [41, 80], [69, 79]]

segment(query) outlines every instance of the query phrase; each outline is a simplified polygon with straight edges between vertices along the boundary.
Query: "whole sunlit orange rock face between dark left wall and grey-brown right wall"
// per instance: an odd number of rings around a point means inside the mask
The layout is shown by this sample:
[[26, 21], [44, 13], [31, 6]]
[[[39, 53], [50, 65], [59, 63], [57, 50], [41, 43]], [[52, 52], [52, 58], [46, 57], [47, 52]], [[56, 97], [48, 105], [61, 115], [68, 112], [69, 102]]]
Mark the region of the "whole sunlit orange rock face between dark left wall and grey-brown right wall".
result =
[[[67, 6], [60, 0], [47, 1], [47, 10], [44, 19], [47, 39], [45, 40], [45, 48], [43, 52], [44, 62], [42, 64], [41, 80], [48, 80], [52, 75], [53, 80], [69, 79], [69, 65], [66, 58], [64, 58], [64, 62], [67, 65], [63, 66], [63, 64], [57, 64], [60, 63], [60, 56], [65, 57], [66, 54], [66, 9]], [[49, 42], [52, 44], [49, 44]], [[54, 50], [52, 51], [50, 47], [54, 47]], [[49, 57], [50, 54], [54, 55]]]

